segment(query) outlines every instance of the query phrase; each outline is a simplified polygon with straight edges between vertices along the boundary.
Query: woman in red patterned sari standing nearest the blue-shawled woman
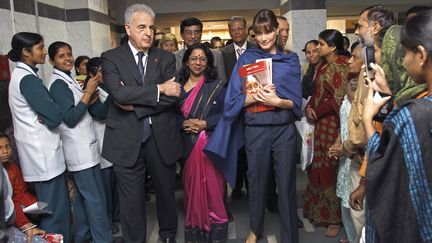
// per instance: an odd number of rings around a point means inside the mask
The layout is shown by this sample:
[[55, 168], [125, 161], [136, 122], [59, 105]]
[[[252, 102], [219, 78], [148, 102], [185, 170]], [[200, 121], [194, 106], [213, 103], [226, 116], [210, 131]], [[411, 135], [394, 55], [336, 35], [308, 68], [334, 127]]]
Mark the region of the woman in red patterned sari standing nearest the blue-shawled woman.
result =
[[314, 92], [306, 106], [306, 116], [315, 122], [315, 134], [304, 216], [315, 226], [327, 227], [326, 236], [336, 237], [341, 223], [340, 200], [336, 196], [339, 160], [330, 158], [327, 151], [339, 134], [339, 107], [349, 80], [348, 57], [339, 31], [324, 30], [318, 41], [319, 53], [325, 62], [318, 68]]

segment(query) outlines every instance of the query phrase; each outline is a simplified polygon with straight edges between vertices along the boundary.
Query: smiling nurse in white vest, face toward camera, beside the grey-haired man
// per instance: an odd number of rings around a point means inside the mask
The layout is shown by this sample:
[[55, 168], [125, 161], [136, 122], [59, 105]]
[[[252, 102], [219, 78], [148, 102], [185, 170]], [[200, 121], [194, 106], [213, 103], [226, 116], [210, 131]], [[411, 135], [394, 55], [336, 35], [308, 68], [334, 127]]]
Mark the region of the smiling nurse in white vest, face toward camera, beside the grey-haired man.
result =
[[48, 89], [63, 112], [59, 126], [67, 170], [74, 181], [73, 212], [76, 221], [75, 242], [106, 243], [112, 241], [111, 223], [106, 210], [99, 145], [92, 116], [103, 119], [104, 105], [95, 92], [97, 78], [87, 82], [86, 89], [71, 76], [74, 58], [72, 47], [65, 42], [54, 42], [48, 48], [54, 66]]

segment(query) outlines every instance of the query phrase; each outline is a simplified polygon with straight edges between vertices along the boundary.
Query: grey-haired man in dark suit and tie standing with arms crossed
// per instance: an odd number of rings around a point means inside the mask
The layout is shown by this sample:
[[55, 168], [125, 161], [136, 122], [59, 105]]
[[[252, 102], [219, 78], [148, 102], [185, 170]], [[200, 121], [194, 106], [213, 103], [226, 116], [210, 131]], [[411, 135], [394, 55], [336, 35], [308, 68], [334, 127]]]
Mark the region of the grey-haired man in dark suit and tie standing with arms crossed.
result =
[[126, 9], [129, 41], [102, 54], [104, 83], [113, 104], [106, 121], [102, 156], [114, 163], [125, 242], [146, 242], [145, 171], [156, 190], [159, 236], [175, 242], [175, 162], [182, 156], [173, 103], [180, 96], [175, 57], [152, 47], [153, 10]]

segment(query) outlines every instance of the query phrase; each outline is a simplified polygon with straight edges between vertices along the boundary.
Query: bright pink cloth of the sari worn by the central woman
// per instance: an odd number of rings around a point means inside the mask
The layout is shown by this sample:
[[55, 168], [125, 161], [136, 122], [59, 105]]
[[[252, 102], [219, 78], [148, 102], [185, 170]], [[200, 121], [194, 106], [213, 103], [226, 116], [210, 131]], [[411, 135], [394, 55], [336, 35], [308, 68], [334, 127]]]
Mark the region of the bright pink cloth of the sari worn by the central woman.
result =
[[[188, 119], [204, 78], [183, 103], [183, 117]], [[185, 225], [209, 232], [212, 224], [228, 222], [223, 195], [225, 180], [223, 174], [214, 166], [203, 152], [208, 141], [205, 130], [198, 134], [198, 139], [186, 160], [183, 169], [184, 201], [186, 207]]]

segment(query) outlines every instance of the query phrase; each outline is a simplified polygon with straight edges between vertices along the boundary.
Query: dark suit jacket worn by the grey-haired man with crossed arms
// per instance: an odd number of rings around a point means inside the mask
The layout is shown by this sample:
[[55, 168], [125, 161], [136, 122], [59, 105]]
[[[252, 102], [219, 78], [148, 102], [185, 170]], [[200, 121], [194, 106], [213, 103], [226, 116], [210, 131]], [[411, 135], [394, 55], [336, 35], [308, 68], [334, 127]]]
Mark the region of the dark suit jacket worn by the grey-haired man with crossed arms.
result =
[[150, 116], [163, 162], [175, 163], [183, 147], [174, 111], [177, 98], [160, 95], [157, 102], [157, 85], [176, 76], [174, 55], [150, 48], [144, 84], [128, 44], [102, 53], [101, 58], [104, 83], [113, 101], [134, 106], [134, 111], [125, 111], [110, 104], [102, 156], [119, 166], [133, 166], [142, 144], [143, 120]]

